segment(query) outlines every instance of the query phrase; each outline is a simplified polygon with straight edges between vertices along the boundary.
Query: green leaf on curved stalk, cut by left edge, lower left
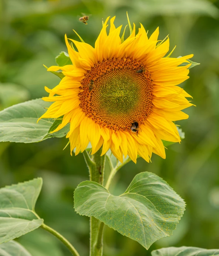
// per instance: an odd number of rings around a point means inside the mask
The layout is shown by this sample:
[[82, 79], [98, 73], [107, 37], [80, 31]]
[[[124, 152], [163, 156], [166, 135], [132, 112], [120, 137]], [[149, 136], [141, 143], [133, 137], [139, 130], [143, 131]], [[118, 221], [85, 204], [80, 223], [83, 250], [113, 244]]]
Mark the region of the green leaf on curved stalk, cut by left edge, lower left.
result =
[[0, 189], [0, 243], [22, 236], [43, 224], [35, 204], [43, 180], [37, 178]]

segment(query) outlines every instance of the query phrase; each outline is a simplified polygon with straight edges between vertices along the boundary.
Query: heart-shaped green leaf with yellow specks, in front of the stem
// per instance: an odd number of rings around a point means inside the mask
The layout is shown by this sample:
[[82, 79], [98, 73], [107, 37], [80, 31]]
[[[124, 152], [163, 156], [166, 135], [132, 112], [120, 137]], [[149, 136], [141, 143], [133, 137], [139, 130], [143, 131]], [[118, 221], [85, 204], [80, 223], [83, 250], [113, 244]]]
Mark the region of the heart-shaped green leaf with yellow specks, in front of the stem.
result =
[[94, 216], [146, 249], [170, 236], [185, 210], [182, 198], [162, 178], [148, 172], [136, 175], [121, 196], [84, 181], [76, 188], [74, 201], [77, 213]]

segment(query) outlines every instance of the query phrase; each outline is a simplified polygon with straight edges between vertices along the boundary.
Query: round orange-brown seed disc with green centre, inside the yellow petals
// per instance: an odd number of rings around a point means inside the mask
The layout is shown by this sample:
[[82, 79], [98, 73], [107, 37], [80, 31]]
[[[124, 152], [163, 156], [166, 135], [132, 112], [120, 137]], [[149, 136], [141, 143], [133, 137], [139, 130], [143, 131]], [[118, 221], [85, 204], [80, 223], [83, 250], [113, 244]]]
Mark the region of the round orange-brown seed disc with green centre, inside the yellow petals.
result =
[[[143, 69], [142, 73], [138, 70]], [[94, 81], [92, 90], [89, 85]], [[103, 127], [130, 130], [152, 111], [151, 73], [138, 61], [111, 59], [98, 62], [81, 82], [80, 106]]]

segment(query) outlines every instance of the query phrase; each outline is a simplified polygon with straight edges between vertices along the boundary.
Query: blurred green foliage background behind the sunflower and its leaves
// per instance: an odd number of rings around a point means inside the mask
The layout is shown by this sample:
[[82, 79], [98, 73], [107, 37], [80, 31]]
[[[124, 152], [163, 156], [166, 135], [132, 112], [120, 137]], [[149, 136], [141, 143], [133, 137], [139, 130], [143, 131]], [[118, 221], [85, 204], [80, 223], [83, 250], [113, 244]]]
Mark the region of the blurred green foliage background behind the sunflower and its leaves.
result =
[[[76, 39], [75, 29], [94, 46], [102, 18], [116, 15], [115, 24], [141, 22], [149, 35], [160, 28], [159, 39], [169, 34], [173, 57], [194, 53], [201, 65], [191, 69], [182, 84], [196, 107], [186, 109], [180, 121], [185, 139], [169, 146], [166, 160], [152, 156], [148, 164], [123, 167], [111, 192], [123, 193], [135, 174], [151, 171], [164, 178], [186, 201], [187, 207], [173, 236], [146, 251], [140, 244], [105, 227], [105, 256], [150, 255], [167, 246], [219, 248], [219, 1], [207, 0], [0, 0], [0, 110], [28, 99], [46, 96], [60, 79], [46, 69], [66, 51], [64, 34]], [[92, 14], [88, 25], [78, 22], [81, 13]], [[89, 219], [73, 209], [78, 183], [88, 179], [83, 156], [63, 151], [67, 139], [36, 144], [0, 143], [0, 186], [43, 177], [37, 213], [81, 253], [88, 255]], [[18, 239], [33, 256], [70, 256], [62, 244], [44, 230]]]

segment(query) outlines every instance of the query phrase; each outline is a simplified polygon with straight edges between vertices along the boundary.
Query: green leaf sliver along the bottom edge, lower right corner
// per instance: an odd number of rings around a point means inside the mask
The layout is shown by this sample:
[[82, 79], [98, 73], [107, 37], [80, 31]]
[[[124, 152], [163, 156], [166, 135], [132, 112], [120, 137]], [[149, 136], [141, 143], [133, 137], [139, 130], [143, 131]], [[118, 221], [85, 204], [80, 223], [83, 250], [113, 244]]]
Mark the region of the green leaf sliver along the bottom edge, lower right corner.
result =
[[219, 249], [202, 249], [198, 247], [167, 247], [159, 250], [154, 250], [152, 256], [217, 256]]

